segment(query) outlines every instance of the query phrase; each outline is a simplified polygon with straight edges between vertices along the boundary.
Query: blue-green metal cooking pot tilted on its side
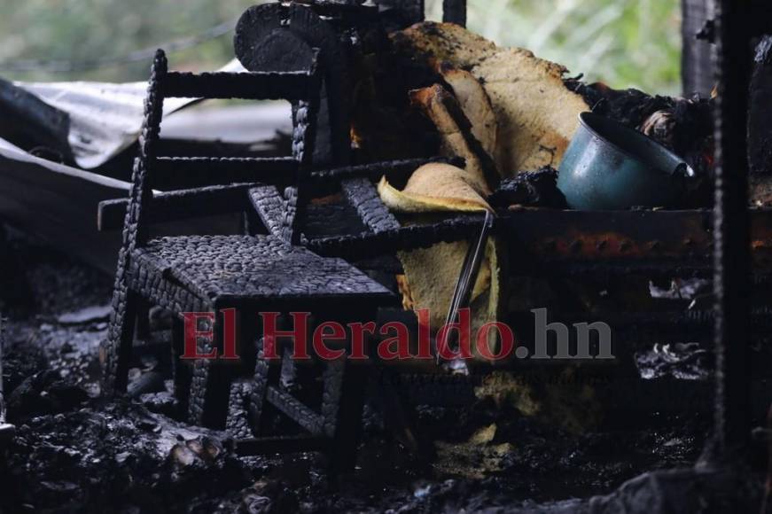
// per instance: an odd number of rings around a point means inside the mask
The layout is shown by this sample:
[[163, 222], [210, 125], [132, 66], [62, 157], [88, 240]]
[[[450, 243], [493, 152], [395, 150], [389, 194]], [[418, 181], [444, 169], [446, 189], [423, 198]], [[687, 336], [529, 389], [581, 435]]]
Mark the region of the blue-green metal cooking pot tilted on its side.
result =
[[623, 210], [675, 206], [693, 170], [650, 137], [593, 113], [579, 115], [560, 163], [558, 189], [568, 206]]

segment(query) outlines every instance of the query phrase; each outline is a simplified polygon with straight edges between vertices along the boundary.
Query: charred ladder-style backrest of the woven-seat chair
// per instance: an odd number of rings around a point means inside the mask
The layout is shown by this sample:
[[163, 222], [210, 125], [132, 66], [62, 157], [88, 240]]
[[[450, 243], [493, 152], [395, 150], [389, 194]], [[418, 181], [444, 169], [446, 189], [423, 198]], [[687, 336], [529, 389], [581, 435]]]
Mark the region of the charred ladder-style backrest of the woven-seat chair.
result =
[[[147, 239], [144, 216], [152, 210], [152, 188], [179, 191], [176, 204], [197, 199], [228, 202], [233, 189], [247, 184], [276, 183], [285, 190], [286, 238], [292, 244], [300, 241], [297, 224], [307, 201], [316, 140], [316, 112], [319, 108], [320, 74], [316, 63], [307, 72], [289, 73], [178, 73], [168, 71], [163, 51], [156, 52], [144, 105], [144, 123], [139, 139], [139, 154], [134, 162], [129, 208], [124, 222], [124, 248], [133, 250]], [[185, 158], [158, 155], [160, 122], [166, 97], [243, 98], [254, 100], [285, 99], [295, 107], [293, 115], [292, 157], [287, 158]], [[230, 184], [221, 188], [207, 187]], [[189, 188], [199, 189], [189, 189]], [[221, 192], [222, 191], [222, 192]], [[230, 196], [229, 196], [230, 195]], [[245, 191], [246, 198], [246, 191]], [[184, 205], [176, 205], [182, 206]], [[226, 204], [227, 206], [227, 204]], [[240, 210], [233, 205], [232, 212]], [[191, 209], [192, 210], [192, 209]], [[207, 211], [207, 209], [204, 209]], [[212, 209], [208, 209], [211, 213]]]

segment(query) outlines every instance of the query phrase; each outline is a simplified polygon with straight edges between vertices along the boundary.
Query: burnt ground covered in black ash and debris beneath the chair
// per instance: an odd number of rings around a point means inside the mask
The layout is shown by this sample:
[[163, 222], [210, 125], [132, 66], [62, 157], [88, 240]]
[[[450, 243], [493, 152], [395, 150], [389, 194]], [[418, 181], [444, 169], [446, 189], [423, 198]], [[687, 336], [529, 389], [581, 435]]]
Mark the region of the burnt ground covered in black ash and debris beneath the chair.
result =
[[[371, 414], [357, 471], [332, 487], [316, 456], [233, 456], [227, 434], [169, 417], [166, 363], [152, 351], [132, 370], [148, 393], [101, 400], [110, 277], [15, 237], [0, 284], [5, 391], [18, 429], [2, 471], [4, 511], [616, 512], [668, 491], [678, 498], [671, 511], [699, 504], [688, 503], [693, 490], [682, 494], [702, 483], [693, 471], [644, 475], [613, 493], [646, 471], [698, 461], [711, 424], [710, 363], [694, 348], [643, 348], [640, 373], [591, 386], [498, 377], [472, 405], [421, 407], [436, 451], [426, 466]], [[737, 481], [721, 484], [737, 493]], [[758, 496], [758, 476], [740, 483]], [[700, 497], [721, 489], [697, 488]]]

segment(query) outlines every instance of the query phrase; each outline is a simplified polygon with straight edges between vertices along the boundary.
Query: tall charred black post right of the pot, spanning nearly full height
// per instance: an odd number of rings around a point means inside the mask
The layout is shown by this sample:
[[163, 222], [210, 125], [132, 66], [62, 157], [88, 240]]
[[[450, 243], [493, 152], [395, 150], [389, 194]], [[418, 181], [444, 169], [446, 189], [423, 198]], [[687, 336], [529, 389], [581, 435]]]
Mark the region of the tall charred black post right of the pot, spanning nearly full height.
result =
[[716, 3], [714, 337], [715, 442], [720, 458], [745, 450], [750, 435], [749, 4], [747, 0]]

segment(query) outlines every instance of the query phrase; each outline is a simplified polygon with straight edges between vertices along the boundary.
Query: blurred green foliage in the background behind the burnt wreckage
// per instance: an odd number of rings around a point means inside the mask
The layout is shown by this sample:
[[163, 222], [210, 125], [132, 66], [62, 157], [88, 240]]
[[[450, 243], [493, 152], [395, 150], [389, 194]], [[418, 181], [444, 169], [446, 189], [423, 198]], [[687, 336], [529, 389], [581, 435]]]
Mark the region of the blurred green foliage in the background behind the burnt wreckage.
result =
[[[83, 61], [199, 34], [255, 0], [0, 0], [0, 76], [26, 80], [142, 81], [147, 63], [90, 72], [12, 72], [16, 59]], [[430, 19], [441, 0], [427, 0]], [[469, 0], [469, 27], [526, 47], [573, 74], [613, 87], [680, 90], [678, 0]], [[178, 69], [212, 69], [233, 55], [230, 35], [177, 51]]]

